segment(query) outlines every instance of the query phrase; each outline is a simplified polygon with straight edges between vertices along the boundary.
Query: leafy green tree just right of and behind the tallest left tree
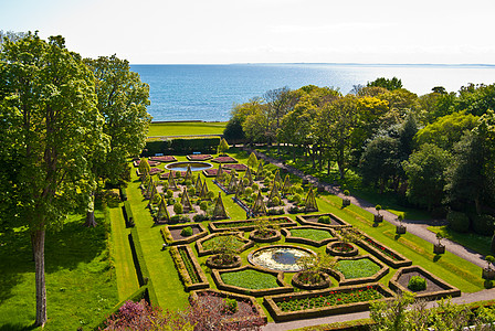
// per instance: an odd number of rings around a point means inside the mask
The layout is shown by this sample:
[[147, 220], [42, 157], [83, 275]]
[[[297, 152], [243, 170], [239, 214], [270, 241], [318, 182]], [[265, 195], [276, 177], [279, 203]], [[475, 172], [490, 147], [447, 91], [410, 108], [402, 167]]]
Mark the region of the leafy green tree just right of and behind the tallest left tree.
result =
[[[105, 118], [104, 134], [109, 139], [107, 151], [93, 151], [93, 172], [97, 179], [125, 181], [129, 169], [127, 158], [138, 154], [146, 142], [151, 116], [149, 86], [130, 71], [129, 63], [115, 55], [85, 60], [96, 79], [97, 107]], [[94, 191], [86, 213], [86, 226], [96, 226]]]

